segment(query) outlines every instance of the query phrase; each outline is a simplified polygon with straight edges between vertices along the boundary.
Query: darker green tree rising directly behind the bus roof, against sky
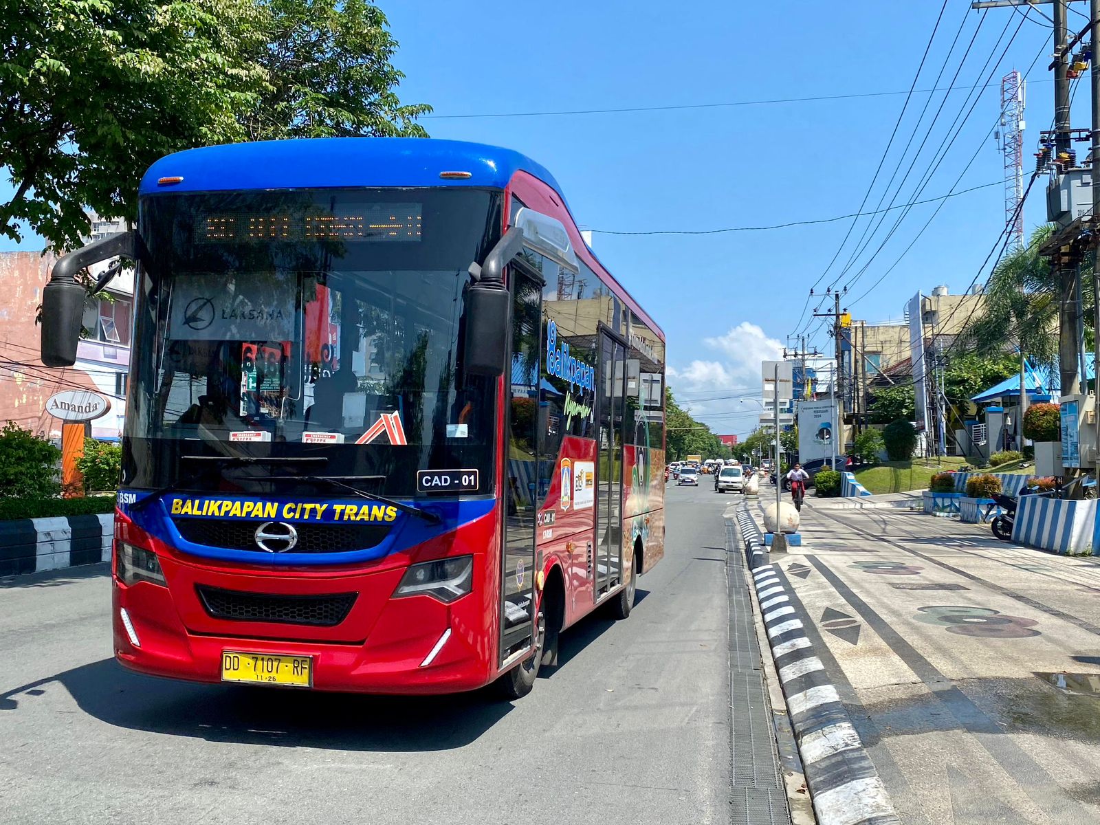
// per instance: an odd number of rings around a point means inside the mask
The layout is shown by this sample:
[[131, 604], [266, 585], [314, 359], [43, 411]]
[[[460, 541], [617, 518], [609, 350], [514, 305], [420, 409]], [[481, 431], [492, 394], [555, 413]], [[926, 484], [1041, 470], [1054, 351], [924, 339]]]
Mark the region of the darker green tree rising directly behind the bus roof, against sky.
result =
[[270, 14], [265, 42], [250, 57], [266, 88], [242, 121], [251, 140], [358, 135], [427, 138], [394, 89], [397, 41], [366, 0], [260, 0]]

